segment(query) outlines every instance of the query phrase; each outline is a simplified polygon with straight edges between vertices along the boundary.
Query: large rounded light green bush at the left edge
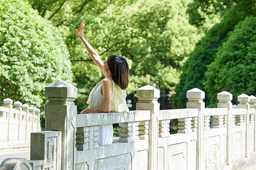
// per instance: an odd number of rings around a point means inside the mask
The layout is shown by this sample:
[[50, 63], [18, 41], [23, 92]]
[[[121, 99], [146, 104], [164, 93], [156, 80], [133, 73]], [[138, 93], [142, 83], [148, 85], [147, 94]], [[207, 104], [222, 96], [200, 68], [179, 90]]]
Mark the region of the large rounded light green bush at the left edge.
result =
[[69, 52], [60, 33], [21, 0], [0, 3], [0, 99], [42, 107], [44, 87], [72, 82]]

